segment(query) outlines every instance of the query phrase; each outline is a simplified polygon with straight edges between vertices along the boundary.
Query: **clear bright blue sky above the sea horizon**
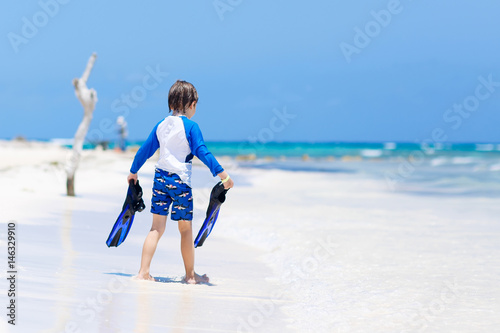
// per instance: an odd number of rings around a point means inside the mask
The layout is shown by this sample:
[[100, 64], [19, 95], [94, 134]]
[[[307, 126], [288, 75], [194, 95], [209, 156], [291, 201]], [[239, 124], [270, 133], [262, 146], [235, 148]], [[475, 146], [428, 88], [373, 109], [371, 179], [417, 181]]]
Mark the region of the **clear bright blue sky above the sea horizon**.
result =
[[[82, 107], [71, 80], [95, 51], [91, 130], [106, 139], [118, 115], [144, 139], [184, 79], [206, 140], [415, 142], [438, 129], [500, 142], [498, 2], [60, 1], [1, 5], [0, 138], [72, 137]], [[26, 20], [36, 32], [23, 34]], [[168, 75], [126, 106], [157, 69]]]

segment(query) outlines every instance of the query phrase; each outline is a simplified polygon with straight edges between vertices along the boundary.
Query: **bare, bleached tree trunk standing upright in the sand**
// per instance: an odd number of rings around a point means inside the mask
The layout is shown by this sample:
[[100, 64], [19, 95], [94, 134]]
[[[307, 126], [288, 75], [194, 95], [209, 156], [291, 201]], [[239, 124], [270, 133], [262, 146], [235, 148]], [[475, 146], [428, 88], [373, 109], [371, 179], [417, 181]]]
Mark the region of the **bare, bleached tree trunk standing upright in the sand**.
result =
[[92, 67], [94, 67], [97, 55], [93, 53], [87, 63], [87, 67], [83, 75], [79, 79], [73, 79], [75, 87], [75, 95], [83, 106], [83, 120], [78, 126], [73, 142], [73, 152], [66, 163], [66, 192], [68, 196], [75, 196], [75, 172], [80, 163], [80, 156], [83, 150], [83, 142], [89, 130], [90, 122], [94, 114], [95, 104], [97, 103], [97, 92], [94, 89], [87, 88], [87, 80], [89, 78]]

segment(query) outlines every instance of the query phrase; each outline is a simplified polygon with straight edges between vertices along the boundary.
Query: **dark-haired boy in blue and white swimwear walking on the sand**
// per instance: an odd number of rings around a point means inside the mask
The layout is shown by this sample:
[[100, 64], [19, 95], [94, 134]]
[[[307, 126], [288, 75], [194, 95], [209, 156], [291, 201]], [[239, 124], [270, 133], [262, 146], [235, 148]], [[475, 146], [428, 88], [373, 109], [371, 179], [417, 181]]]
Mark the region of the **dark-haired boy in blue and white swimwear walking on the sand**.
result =
[[205, 146], [201, 130], [191, 120], [196, 112], [198, 92], [186, 81], [175, 82], [168, 93], [168, 107], [172, 115], [161, 120], [135, 155], [127, 182], [137, 181], [137, 172], [146, 160], [160, 149], [156, 164], [151, 198], [153, 224], [142, 248], [141, 267], [137, 279], [152, 280], [150, 265], [160, 240], [167, 215], [172, 206], [171, 219], [177, 221], [181, 234], [181, 253], [184, 260], [186, 283], [207, 283], [208, 276], [194, 271], [193, 196], [191, 191], [191, 161], [197, 156], [212, 172], [219, 176], [226, 189], [233, 180]]

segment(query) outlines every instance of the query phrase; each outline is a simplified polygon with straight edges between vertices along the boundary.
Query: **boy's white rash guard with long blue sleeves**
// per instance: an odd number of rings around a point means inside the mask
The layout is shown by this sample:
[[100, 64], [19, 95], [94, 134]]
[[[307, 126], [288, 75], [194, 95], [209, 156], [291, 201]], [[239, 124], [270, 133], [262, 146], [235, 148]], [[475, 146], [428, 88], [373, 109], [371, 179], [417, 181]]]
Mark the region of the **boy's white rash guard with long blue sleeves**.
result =
[[205, 163], [214, 177], [224, 171], [205, 146], [198, 124], [186, 116], [168, 116], [160, 121], [137, 151], [130, 172], [137, 173], [158, 148], [160, 158], [156, 167], [177, 174], [189, 187], [193, 155]]

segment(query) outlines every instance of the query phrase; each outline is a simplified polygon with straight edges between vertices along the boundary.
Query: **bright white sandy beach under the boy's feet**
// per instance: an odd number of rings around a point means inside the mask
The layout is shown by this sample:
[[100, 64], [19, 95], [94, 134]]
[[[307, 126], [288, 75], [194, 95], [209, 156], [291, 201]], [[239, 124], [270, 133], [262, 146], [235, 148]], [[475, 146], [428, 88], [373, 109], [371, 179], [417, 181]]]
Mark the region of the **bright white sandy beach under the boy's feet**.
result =
[[[74, 198], [65, 196], [66, 150], [0, 142], [0, 154], [0, 249], [6, 257], [6, 224], [16, 221], [18, 252], [16, 326], [3, 314], [1, 332], [495, 332], [500, 326], [498, 198], [410, 195], [361, 172], [232, 163], [236, 186], [196, 249], [196, 270], [211, 285], [180, 283], [179, 236], [171, 222], [151, 267], [159, 282], [141, 282], [132, 276], [151, 225], [154, 161], [139, 173], [147, 210], [136, 214], [127, 240], [108, 249], [132, 154], [85, 151]], [[197, 230], [216, 179], [202, 166], [193, 175]], [[0, 267], [5, 309], [6, 259]]]

